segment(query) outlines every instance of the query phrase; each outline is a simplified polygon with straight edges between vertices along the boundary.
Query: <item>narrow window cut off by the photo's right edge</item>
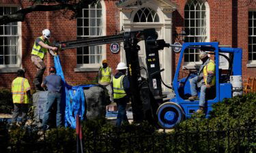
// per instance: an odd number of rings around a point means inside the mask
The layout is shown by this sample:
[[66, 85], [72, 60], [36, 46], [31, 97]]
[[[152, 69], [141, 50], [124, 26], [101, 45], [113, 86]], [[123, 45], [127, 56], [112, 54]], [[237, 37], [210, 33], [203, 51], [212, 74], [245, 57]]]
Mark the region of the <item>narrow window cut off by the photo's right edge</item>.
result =
[[248, 13], [248, 61], [256, 61], [256, 11]]

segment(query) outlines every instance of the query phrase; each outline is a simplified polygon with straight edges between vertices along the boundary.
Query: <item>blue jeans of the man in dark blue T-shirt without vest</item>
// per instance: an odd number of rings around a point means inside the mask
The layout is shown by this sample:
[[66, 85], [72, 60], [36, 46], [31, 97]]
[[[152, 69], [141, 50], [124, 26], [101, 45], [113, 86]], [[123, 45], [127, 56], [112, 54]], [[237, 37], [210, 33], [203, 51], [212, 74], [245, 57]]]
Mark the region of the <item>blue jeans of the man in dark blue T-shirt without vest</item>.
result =
[[62, 125], [62, 117], [61, 117], [61, 93], [59, 92], [48, 92], [47, 103], [45, 106], [44, 119], [42, 121], [42, 125], [44, 129], [47, 129], [49, 116], [52, 112], [53, 105], [57, 105], [56, 112], [56, 126], [60, 127]]

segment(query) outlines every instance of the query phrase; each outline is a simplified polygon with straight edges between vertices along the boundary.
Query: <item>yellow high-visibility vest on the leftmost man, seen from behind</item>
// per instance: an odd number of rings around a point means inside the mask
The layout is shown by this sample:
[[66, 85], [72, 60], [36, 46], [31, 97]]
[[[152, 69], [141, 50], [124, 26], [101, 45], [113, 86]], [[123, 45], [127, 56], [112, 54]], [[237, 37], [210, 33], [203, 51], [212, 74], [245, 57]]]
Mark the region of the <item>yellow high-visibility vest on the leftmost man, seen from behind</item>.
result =
[[13, 103], [29, 103], [27, 91], [30, 90], [29, 81], [26, 78], [18, 77], [12, 81]]

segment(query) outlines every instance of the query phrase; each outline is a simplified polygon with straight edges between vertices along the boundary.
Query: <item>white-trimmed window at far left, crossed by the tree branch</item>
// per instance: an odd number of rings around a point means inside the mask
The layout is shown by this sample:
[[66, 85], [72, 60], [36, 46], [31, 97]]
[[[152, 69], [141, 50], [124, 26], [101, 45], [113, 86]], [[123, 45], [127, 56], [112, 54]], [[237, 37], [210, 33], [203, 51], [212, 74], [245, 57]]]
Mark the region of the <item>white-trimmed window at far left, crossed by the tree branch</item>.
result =
[[[12, 14], [18, 7], [0, 7], [0, 16]], [[0, 25], [0, 67], [19, 67], [21, 52], [20, 22]]]

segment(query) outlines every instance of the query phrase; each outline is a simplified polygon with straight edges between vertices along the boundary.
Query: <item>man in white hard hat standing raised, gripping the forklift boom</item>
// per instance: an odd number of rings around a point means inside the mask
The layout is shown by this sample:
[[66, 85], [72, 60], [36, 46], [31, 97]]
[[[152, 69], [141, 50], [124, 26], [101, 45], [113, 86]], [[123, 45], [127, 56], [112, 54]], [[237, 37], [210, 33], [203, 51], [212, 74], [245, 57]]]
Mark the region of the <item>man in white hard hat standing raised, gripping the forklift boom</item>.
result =
[[44, 29], [42, 31], [42, 36], [35, 39], [33, 44], [32, 52], [31, 52], [31, 61], [37, 67], [37, 72], [35, 73], [35, 79], [33, 83], [35, 84], [35, 90], [42, 90], [42, 76], [44, 75], [44, 70], [46, 66], [44, 64], [44, 56], [48, 50], [51, 55], [55, 56], [55, 52], [57, 47], [49, 46], [49, 38], [51, 37], [51, 31], [48, 29]]

